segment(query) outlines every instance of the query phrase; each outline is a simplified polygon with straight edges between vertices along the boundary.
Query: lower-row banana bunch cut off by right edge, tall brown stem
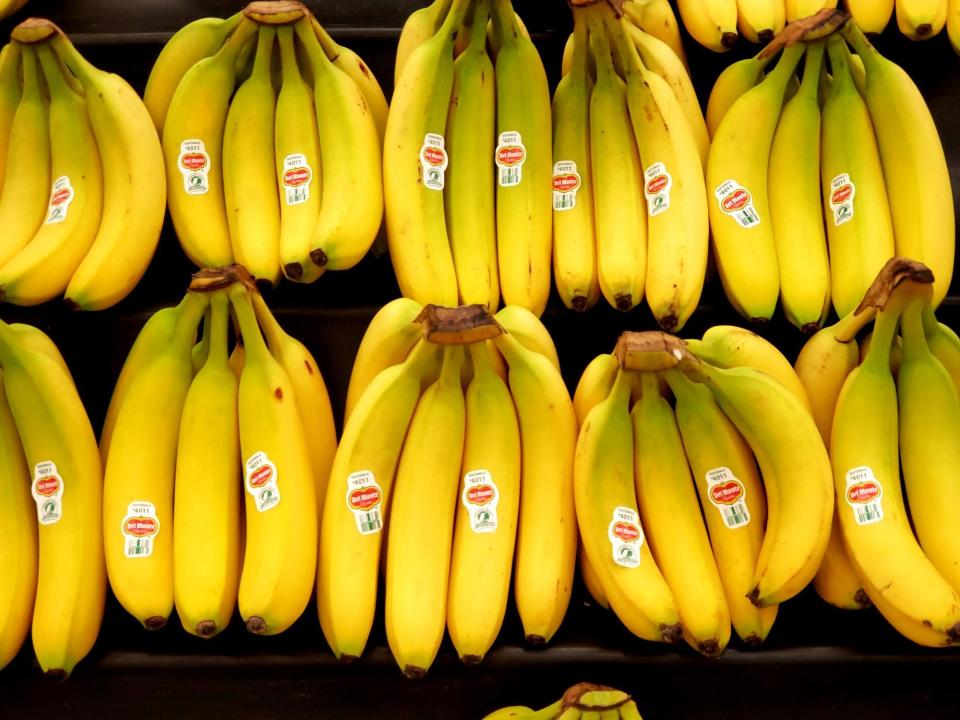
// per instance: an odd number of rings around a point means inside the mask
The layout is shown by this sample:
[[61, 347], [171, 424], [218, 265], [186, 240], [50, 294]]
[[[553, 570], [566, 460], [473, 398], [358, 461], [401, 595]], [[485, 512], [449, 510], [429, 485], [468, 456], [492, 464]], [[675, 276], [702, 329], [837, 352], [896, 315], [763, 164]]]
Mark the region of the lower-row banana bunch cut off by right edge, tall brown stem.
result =
[[[814, 586], [837, 607], [872, 603], [905, 637], [938, 647], [960, 643], [951, 514], [960, 338], [937, 321], [932, 283], [926, 266], [894, 258], [856, 312], [807, 342], [796, 367], [830, 446], [837, 498]], [[871, 320], [861, 353], [856, 336]]]

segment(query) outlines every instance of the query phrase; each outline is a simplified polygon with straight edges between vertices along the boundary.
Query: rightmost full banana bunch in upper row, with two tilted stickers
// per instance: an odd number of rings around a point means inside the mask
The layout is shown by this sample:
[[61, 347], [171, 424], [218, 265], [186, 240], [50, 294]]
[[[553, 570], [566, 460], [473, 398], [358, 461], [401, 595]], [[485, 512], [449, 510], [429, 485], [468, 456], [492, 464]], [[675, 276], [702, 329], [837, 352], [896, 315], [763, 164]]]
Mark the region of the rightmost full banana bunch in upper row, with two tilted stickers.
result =
[[848, 17], [824, 10], [795, 23], [727, 68], [710, 95], [714, 252], [727, 297], [751, 321], [766, 322], [779, 297], [790, 322], [815, 332], [831, 303], [838, 317], [853, 310], [895, 254], [931, 267], [934, 306], [950, 285], [953, 194], [937, 128], [910, 77]]

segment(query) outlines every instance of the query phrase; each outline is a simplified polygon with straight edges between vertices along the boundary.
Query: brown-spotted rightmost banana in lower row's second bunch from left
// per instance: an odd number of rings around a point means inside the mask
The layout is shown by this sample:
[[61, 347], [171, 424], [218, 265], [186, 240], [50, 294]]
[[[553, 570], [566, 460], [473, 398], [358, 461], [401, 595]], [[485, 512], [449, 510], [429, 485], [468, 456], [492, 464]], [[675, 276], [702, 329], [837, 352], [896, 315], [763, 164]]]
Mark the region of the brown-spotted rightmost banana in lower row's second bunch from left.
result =
[[337, 451], [337, 429], [333, 421], [330, 394], [313, 355], [303, 343], [284, 332], [259, 294], [253, 295], [253, 307], [270, 354], [283, 366], [293, 385], [293, 395], [297, 400], [300, 423], [310, 454], [319, 517], [327, 495], [330, 466]]

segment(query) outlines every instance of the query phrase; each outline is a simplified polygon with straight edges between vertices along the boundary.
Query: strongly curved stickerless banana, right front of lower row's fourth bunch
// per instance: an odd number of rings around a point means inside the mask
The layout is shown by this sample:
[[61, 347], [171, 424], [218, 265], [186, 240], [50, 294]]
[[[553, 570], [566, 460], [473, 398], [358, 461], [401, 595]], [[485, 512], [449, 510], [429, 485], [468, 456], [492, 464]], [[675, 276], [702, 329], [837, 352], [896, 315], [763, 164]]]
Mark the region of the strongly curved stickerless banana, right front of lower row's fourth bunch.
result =
[[789, 600], [813, 579], [830, 537], [830, 461], [817, 426], [790, 391], [753, 368], [686, 361], [682, 369], [713, 391], [760, 465], [767, 531], [750, 600]]

